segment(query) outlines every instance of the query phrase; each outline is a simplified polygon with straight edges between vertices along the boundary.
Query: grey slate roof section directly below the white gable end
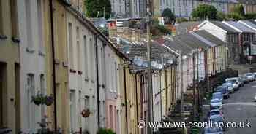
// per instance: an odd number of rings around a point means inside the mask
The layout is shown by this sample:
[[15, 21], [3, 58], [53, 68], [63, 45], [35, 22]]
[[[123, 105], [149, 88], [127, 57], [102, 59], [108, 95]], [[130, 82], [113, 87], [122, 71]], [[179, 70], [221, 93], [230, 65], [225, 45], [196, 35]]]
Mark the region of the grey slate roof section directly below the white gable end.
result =
[[206, 39], [207, 41], [211, 42], [212, 44], [215, 44], [215, 45], [225, 44], [225, 42], [223, 42], [216, 36], [213, 36], [211, 33], [208, 33], [208, 31], [200, 30], [200, 31], [193, 31], [193, 33], [197, 34], [198, 36], [203, 37], [203, 39]]

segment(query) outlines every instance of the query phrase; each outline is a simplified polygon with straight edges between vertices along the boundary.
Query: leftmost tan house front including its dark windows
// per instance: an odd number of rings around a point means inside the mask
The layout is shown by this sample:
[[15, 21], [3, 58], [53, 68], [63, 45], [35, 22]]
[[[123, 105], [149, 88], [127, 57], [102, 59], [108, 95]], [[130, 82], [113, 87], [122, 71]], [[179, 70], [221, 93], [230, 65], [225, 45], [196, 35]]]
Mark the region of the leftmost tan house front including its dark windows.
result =
[[17, 1], [0, 1], [0, 128], [20, 130], [20, 28]]

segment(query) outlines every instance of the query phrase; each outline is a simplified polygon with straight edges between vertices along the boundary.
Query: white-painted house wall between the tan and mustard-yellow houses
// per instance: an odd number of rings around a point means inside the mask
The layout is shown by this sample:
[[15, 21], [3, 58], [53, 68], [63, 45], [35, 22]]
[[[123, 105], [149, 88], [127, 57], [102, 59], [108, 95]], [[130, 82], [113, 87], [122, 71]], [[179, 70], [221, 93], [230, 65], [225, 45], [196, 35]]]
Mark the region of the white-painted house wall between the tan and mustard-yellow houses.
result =
[[[40, 75], [45, 76], [45, 55], [42, 47], [43, 18], [39, 17], [42, 15], [42, 7], [39, 8], [38, 5], [42, 4], [35, 0], [17, 1], [20, 36], [20, 127], [23, 133], [35, 132], [39, 127], [37, 122], [41, 122], [42, 106], [35, 106], [31, 102], [31, 93], [35, 95], [39, 90], [46, 90], [45, 82], [42, 88], [40, 85]], [[34, 86], [30, 88], [28, 74], [34, 76]]]

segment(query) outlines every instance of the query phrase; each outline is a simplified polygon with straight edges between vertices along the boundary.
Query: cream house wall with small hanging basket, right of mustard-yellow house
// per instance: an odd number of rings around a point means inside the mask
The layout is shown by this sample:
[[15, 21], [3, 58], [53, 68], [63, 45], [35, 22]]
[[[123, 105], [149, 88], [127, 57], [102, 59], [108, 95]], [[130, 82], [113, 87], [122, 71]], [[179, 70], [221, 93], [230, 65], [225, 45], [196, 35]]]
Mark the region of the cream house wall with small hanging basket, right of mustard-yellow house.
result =
[[[87, 28], [83, 23], [80, 23], [76, 17], [72, 14], [67, 13], [67, 26], [72, 24], [72, 49], [70, 49], [69, 41], [68, 42], [68, 58], [69, 58], [69, 70], [75, 70], [76, 73], [71, 73], [69, 71], [69, 90], [75, 91], [75, 123], [74, 127], [71, 130], [78, 132], [79, 128], [82, 127], [82, 130], [88, 130], [90, 133], [97, 133], [97, 74], [96, 74], [96, 50], [95, 50], [95, 35], [92, 33], [89, 28]], [[78, 34], [77, 34], [78, 28]], [[69, 31], [67, 27], [67, 36], [69, 36]], [[67, 38], [69, 39], [69, 38]], [[79, 42], [79, 45], [78, 45]], [[103, 44], [102, 41], [97, 39], [98, 44], [98, 67], [99, 67], [99, 84], [105, 82], [105, 77], [102, 74], [102, 52]], [[73, 52], [70, 52], [73, 50]], [[78, 58], [78, 53], [80, 52], [80, 58]], [[72, 59], [70, 55], [72, 54]], [[73, 60], [73, 61], [71, 61]], [[70, 63], [74, 65], [71, 66]], [[82, 71], [83, 74], [78, 74], [78, 71]], [[99, 87], [99, 101], [100, 101], [100, 120], [105, 119], [105, 90], [102, 90], [102, 86]], [[70, 96], [69, 96], [70, 97]], [[89, 101], [86, 101], [86, 98], [89, 98]], [[86, 106], [85, 103], [89, 103], [89, 106]], [[89, 108], [91, 114], [87, 118], [83, 118], [80, 115], [80, 112], [83, 109]], [[105, 126], [104, 122], [100, 122], [101, 127]], [[69, 131], [71, 131], [69, 130]]]

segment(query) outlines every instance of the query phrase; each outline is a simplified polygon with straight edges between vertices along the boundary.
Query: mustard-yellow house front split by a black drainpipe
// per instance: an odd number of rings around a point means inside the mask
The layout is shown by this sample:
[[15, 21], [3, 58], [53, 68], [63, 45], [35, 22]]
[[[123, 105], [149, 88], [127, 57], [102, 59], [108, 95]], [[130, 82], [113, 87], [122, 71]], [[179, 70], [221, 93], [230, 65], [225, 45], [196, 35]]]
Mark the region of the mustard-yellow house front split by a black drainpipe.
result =
[[[50, 7], [48, 1], [44, 1], [44, 39], [46, 53], [46, 71], [47, 71], [47, 90], [48, 94], [53, 94], [53, 60], [52, 60], [52, 42], [50, 29]], [[59, 3], [53, 1], [53, 29], [54, 29], [54, 46], [55, 46], [55, 67], [56, 67], [56, 101], [57, 101], [57, 126], [63, 133], [69, 130], [69, 90], [68, 85], [68, 68], [63, 66], [67, 63], [67, 24], [66, 9]], [[53, 106], [48, 107], [48, 120], [54, 122]], [[52, 123], [52, 128], [54, 128]]]

